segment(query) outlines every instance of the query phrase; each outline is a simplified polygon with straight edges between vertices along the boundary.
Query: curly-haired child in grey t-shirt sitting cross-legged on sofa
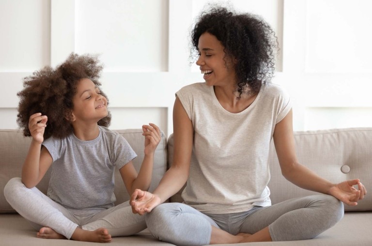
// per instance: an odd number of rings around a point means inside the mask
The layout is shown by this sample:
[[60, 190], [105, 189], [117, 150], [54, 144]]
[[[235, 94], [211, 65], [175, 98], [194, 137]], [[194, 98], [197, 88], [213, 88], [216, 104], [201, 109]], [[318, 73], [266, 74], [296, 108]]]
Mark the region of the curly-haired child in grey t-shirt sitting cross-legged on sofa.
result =
[[[70, 54], [55, 69], [44, 67], [24, 79], [17, 122], [32, 141], [22, 178], [5, 186], [6, 200], [39, 230], [37, 237], [108, 243], [146, 228], [128, 202], [114, 206], [117, 167], [129, 194], [151, 183], [159, 128], [143, 125], [144, 159], [110, 131], [108, 100], [98, 81], [102, 66], [91, 55]], [[37, 185], [52, 167], [47, 196]]]

